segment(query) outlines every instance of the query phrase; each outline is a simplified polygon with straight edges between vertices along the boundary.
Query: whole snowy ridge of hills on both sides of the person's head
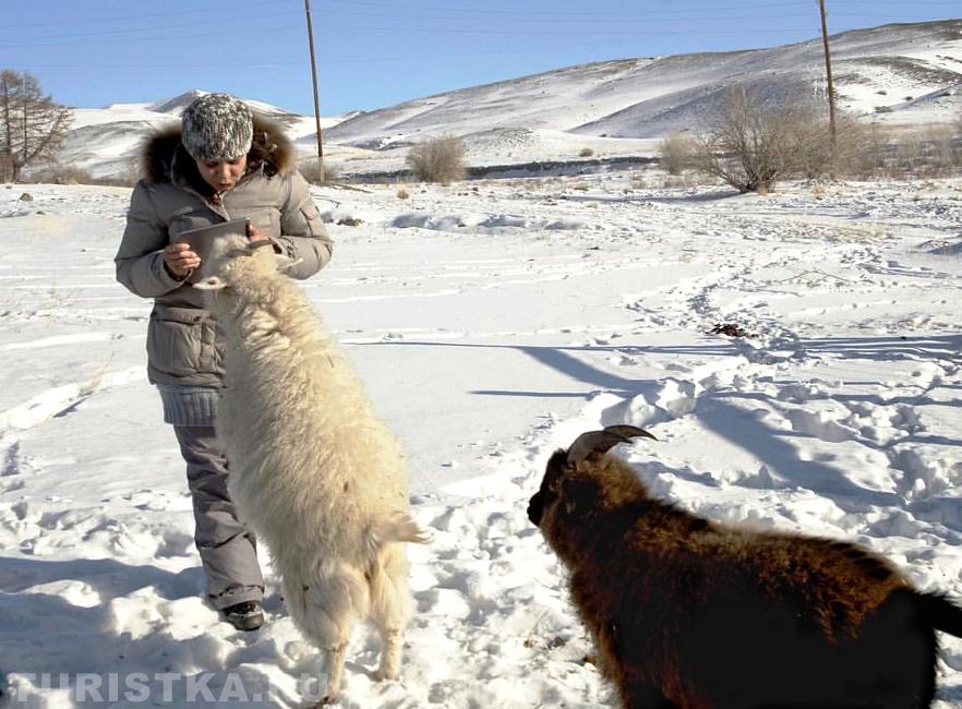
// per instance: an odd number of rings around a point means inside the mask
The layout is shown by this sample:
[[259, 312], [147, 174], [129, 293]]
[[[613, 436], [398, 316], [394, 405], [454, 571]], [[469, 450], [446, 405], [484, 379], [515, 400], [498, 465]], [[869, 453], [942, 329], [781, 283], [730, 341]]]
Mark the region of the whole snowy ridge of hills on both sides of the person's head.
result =
[[[855, 29], [834, 35], [831, 47], [843, 109], [904, 124], [962, 113], [962, 20]], [[322, 127], [333, 158], [359, 171], [402, 165], [410, 145], [440, 134], [461, 136], [473, 165], [570, 157], [579, 148], [637, 154], [652, 140], [697, 130], [734, 84], [773, 96], [825, 96], [821, 40], [567, 67], [326, 118]], [[143, 136], [177, 120], [203, 93], [75, 109], [62, 161], [95, 177], [129, 172]], [[313, 154], [313, 117], [248, 100], [281, 122], [304, 156]]]

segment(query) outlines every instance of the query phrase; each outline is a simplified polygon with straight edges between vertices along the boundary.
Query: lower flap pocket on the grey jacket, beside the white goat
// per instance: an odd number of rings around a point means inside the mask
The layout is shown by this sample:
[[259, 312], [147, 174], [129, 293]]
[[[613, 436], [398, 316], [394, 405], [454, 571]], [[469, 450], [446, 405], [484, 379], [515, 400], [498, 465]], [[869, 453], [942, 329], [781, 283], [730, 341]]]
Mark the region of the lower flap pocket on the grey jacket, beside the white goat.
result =
[[[212, 333], [211, 347], [206, 349], [213, 348], [213, 323], [207, 321], [208, 313], [194, 308], [155, 305], [147, 327], [147, 359], [151, 364], [177, 377], [214, 371], [213, 354], [202, 357], [205, 329]], [[209, 360], [209, 363], [204, 360]]]

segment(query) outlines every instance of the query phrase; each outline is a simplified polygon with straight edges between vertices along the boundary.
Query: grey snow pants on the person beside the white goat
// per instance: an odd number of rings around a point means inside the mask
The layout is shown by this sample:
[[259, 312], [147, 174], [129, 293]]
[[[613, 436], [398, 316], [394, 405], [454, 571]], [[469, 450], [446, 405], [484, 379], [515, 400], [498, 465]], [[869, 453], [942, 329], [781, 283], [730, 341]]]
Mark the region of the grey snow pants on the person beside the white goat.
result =
[[237, 518], [227, 492], [227, 457], [214, 426], [175, 425], [187, 461], [188, 485], [194, 502], [194, 543], [207, 575], [207, 593], [220, 610], [243, 601], [260, 601], [264, 578], [253, 536]]

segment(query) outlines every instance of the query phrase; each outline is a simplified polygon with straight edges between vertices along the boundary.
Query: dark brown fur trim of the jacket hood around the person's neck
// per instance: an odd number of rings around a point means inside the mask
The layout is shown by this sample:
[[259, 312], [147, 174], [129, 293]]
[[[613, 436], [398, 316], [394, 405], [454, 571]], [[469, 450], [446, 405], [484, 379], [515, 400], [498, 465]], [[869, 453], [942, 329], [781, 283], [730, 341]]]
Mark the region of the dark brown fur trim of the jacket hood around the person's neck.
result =
[[[144, 142], [141, 175], [149, 183], [173, 182], [177, 178], [196, 183], [200, 178], [193, 158], [180, 142], [180, 123], [153, 133]], [[254, 113], [254, 142], [248, 153], [248, 171], [273, 176], [297, 167], [297, 151], [279, 123]]]

